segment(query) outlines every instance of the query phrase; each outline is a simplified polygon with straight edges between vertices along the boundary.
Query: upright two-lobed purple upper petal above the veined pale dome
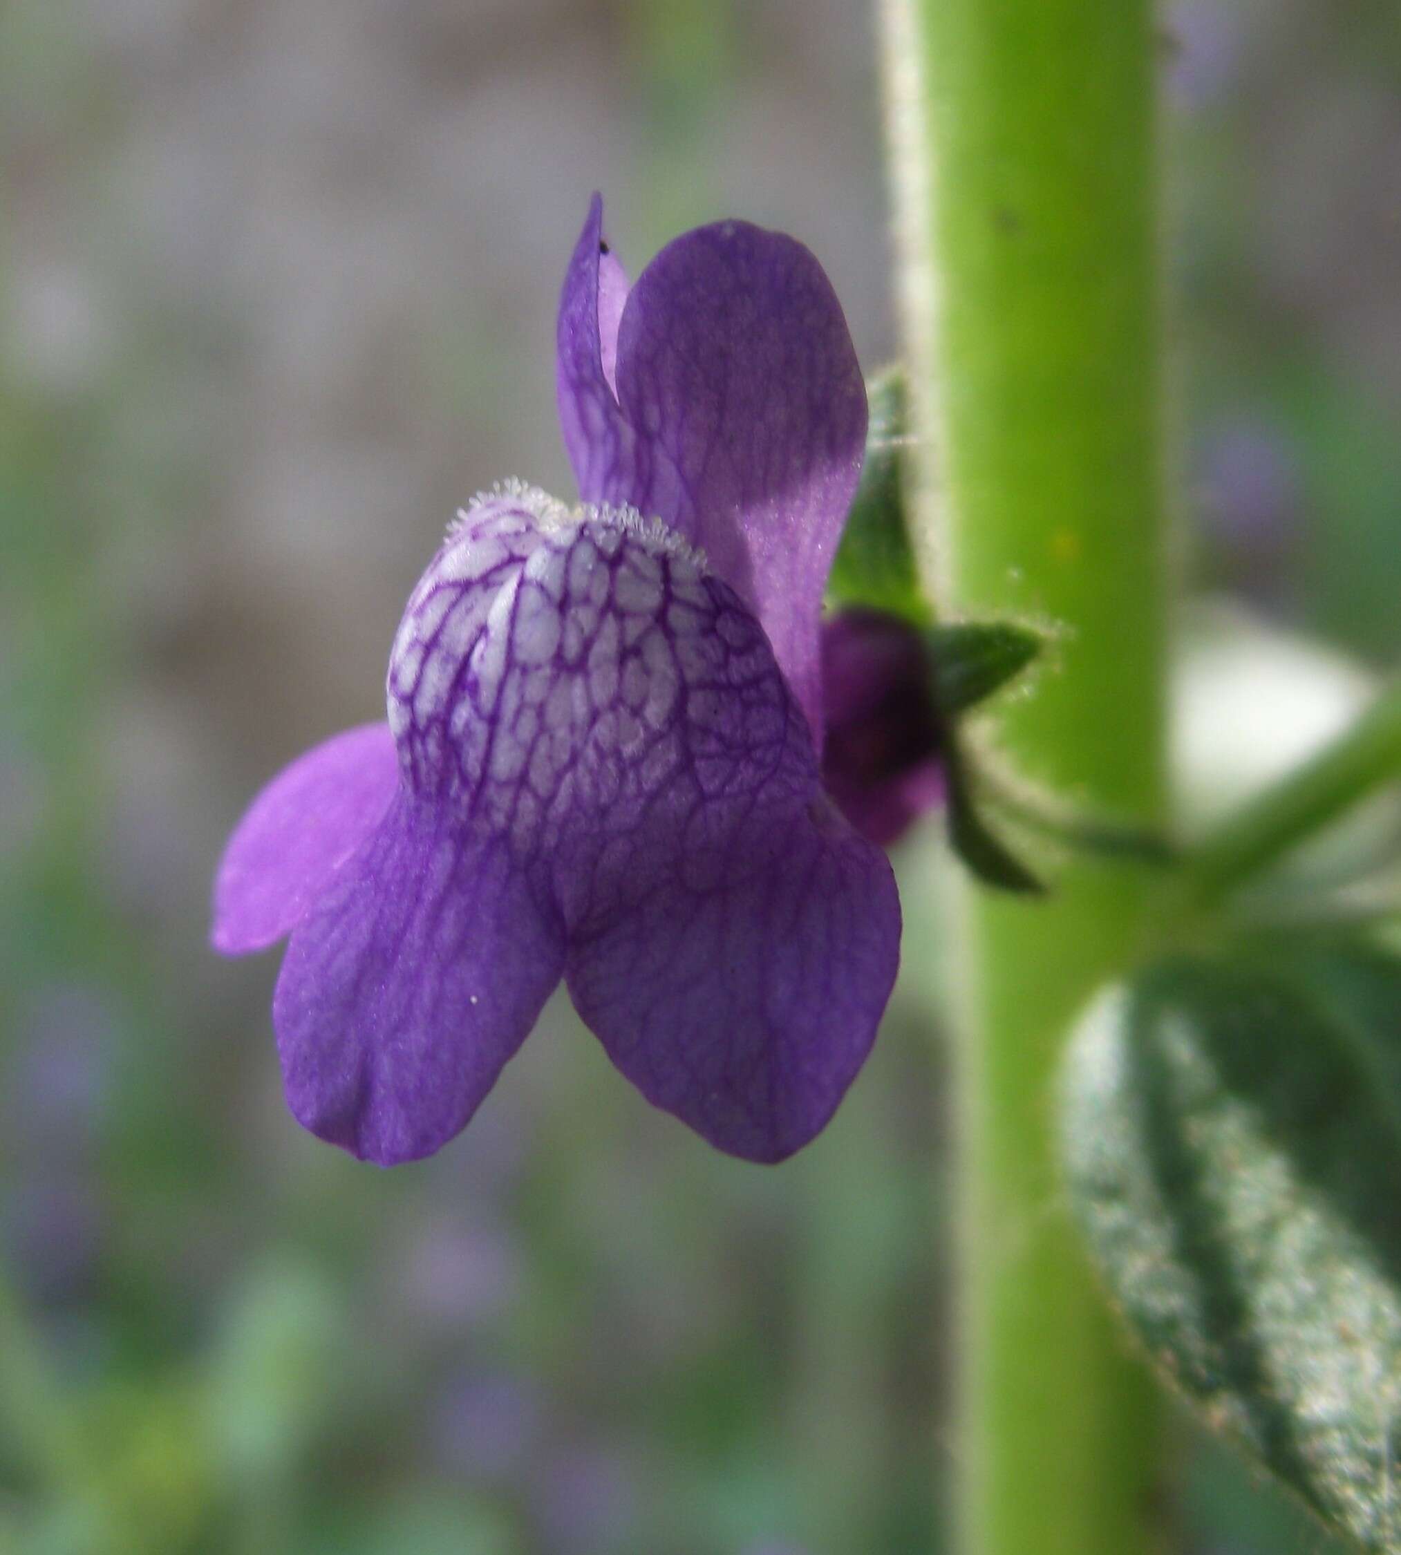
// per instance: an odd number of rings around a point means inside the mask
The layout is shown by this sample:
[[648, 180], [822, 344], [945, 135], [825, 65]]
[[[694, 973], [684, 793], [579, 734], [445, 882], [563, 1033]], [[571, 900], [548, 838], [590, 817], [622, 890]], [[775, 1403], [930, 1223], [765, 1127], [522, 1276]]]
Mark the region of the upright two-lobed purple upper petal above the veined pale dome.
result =
[[821, 740], [818, 616], [866, 440], [841, 306], [793, 238], [700, 227], [628, 292], [614, 398], [602, 345], [589, 345], [600, 224], [596, 204], [560, 311], [560, 414], [580, 491], [704, 547], [759, 616]]

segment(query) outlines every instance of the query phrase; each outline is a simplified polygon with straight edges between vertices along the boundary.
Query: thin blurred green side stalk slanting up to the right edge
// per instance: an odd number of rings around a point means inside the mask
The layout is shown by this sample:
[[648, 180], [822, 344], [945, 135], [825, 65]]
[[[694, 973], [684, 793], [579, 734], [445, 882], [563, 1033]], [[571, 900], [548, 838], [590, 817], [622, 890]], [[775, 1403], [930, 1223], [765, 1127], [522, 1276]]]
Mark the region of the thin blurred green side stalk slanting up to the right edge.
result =
[[1401, 681], [1312, 760], [1225, 816], [1185, 860], [1186, 907], [1207, 908], [1401, 778]]

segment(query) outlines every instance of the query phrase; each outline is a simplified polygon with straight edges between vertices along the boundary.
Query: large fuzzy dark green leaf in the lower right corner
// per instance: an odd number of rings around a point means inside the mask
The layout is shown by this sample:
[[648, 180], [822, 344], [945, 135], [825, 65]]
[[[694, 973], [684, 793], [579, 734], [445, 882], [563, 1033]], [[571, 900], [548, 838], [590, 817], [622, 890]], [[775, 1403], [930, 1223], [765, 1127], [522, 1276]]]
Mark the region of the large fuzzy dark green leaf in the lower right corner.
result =
[[1401, 961], [1160, 964], [1082, 1020], [1060, 1123], [1168, 1379], [1334, 1529], [1401, 1550]]

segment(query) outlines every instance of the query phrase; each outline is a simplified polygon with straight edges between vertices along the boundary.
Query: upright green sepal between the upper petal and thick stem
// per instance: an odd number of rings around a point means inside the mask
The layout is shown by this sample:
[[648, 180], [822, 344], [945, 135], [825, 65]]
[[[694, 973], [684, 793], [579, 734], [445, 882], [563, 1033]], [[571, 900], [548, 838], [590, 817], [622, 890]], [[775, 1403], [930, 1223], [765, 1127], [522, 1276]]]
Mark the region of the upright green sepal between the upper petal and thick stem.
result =
[[914, 627], [927, 627], [933, 616], [907, 527], [905, 378], [900, 369], [872, 378], [866, 397], [871, 404], [866, 462], [832, 561], [827, 594], [840, 608], [883, 610]]

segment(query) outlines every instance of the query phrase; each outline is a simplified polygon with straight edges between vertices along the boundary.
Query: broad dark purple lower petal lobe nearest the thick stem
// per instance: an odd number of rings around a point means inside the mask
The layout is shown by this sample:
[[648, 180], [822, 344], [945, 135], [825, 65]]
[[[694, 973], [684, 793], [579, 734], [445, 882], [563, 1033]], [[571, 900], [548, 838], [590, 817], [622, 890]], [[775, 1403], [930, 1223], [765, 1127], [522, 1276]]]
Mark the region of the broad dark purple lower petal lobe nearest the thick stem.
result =
[[871, 1051], [900, 905], [885, 857], [826, 796], [689, 798], [676, 832], [600, 857], [569, 992], [648, 1101], [731, 1155], [777, 1162]]

